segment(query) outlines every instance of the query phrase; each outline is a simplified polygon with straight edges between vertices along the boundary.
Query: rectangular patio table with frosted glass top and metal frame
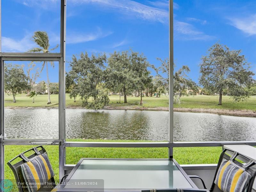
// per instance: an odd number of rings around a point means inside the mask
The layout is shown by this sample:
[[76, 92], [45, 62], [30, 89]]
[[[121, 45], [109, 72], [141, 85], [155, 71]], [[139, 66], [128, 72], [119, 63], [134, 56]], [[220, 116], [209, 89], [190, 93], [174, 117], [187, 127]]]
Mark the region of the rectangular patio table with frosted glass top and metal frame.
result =
[[198, 189], [174, 159], [81, 158], [56, 191]]

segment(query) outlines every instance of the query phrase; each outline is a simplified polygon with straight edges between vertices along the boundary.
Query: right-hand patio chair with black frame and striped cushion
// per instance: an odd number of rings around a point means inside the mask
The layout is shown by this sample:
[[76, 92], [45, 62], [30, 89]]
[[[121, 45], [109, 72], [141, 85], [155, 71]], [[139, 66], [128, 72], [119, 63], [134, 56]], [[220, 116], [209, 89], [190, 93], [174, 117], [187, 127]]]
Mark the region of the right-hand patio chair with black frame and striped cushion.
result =
[[[227, 153], [230, 152], [233, 155], [230, 157]], [[245, 164], [236, 160], [236, 157], [241, 157]], [[250, 192], [254, 179], [256, 177], [256, 161], [248, 159], [246, 156], [224, 149], [220, 155], [217, 169], [213, 178], [210, 192], [223, 192], [236, 189], [235, 191]], [[235, 178], [236, 174], [236, 179]], [[204, 181], [197, 175], [189, 175], [190, 178], [198, 178], [202, 181], [205, 187]], [[243, 181], [243, 182], [241, 182]], [[217, 183], [217, 184], [216, 184]], [[225, 188], [225, 189], [224, 189]], [[238, 190], [239, 188], [239, 190]]]

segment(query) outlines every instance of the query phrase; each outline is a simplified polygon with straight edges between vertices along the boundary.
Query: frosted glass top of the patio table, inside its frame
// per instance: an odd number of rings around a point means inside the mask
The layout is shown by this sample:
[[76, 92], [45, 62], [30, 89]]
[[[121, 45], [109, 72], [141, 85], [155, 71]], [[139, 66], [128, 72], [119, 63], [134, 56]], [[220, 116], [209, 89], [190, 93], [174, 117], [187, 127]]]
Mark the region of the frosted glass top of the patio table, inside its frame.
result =
[[104, 180], [105, 189], [192, 188], [172, 160], [84, 159], [70, 180]]

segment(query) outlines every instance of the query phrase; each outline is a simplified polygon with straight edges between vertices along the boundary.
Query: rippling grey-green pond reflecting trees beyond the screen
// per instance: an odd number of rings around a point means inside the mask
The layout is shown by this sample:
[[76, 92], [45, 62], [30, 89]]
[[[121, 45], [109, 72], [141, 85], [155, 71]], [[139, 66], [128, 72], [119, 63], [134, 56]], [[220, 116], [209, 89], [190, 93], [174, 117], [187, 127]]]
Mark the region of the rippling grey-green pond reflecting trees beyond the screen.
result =
[[[58, 109], [5, 109], [8, 139], [58, 138]], [[168, 111], [66, 109], [66, 138], [168, 140]], [[256, 118], [174, 112], [174, 141], [256, 140]]]

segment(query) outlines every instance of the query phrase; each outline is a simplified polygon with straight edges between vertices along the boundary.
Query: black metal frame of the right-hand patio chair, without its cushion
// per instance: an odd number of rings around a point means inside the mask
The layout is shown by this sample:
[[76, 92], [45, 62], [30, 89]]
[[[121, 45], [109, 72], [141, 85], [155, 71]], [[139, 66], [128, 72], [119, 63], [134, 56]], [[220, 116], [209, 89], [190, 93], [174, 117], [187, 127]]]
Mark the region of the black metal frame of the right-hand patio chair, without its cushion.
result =
[[[235, 164], [237, 164], [238, 166], [241, 166], [241, 167], [242, 167], [244, 164], [240, 163], [239, 161], [237, 161], [237, 160], [235, 159], [237, 156], [243, 157], [243, 159], [248, 160], [248, 162], [251, 161], [251, 159], [248, 159], [246, 156], [244, 156], [244, 155], [242, 155], [242, 154], [240, 154], [240, 153], [237, 153], [237, 152], [235, 152], [235, 151], [231, 151], [231, 150], [228, 150], [228, 149], [224, 149], [224, 150], [222, 151], [222, 153], [220, 154], [219, 162], [218, 162], [217, 169], [216, 169], [216, 172], [215, 172], [213, 181], [212, 181], [212, 186], [211, 186], [210, 192], [213, 192], [214, 189], [218, 188], [218, 186], [215, 185], [214, 180], [215, 180], [215, 178], [216, 178], [216, 176], [217, 176], [217, 173], [218, 173], [218, 170], [219, 170], [219, 168], [220, 168], [220, 164], [221, 164], [222, 160], [223, 160], [223, 159], [226, 159], [226, 160], [230, 160], [230, 159], [231, 159], [231, 157], [228, 156], [228, 155], [225, 153], [225, 152], [227, 152], [227, 151], [233, 153], [233, 158], [234, 158], [233, 162], [234, 162]], [[256, 161], [254, 161], [254, 165], [255, 165], [255, 164], [256, 164]], [[253, 164], [252, 164], [252, 165], [253, 165]], [[251, 165], [251, 167], [252, 167], [252, 165]], [[250, 180], [250, 182], [249, 182], [249, 186], [248, 186], [248, 191], [252, 191], [253, 182], [254, 182], [254, 179], [255, 179], [255, 177], [256, 177], [256, 168], [255, 168], [255, 169], [249, 168], [249, 169], [246, 169], [245, 171], [246, 171], [246, 172], [249, 172], [250, 175], [252, 175], [252, 178], [251, 178], [251, 180]], [[202, 184], [203, 184], [203, 186], [204, 186], [204, 189], [207, 189], [207, 188], [205, 187], [204, 180], [202, 180], [199, 176], [197, 176], [197, 175], [189, 175], [189, 177], [190, 177], [190, 178], [197, 178], [197, 179], [200, 179], [200, 180], [202, 181]], [[219, 188], [218, 188], [218, 189], [219, 189]], [[219, 189], [219, 191], [220, 191], [220, 189]]]

